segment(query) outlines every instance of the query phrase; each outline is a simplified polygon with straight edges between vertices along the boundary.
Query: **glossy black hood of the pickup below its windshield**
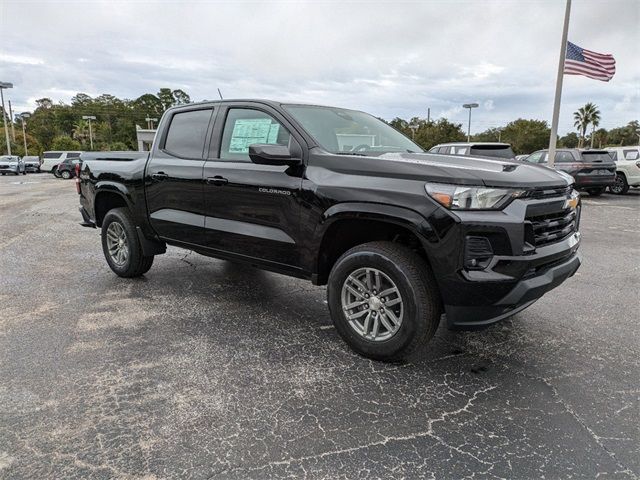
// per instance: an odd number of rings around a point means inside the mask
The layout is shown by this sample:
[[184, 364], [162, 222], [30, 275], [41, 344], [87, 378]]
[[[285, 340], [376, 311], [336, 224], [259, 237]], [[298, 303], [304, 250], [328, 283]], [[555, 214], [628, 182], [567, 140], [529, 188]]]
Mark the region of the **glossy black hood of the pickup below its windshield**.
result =
[[335, 155], [331, 169], [345, 173], [387, 176], [460, 185], [548, 188], [573, 183], [570, 176], [540, 165], [515, 160], [434, 153], [386, 153], [380, 156]]

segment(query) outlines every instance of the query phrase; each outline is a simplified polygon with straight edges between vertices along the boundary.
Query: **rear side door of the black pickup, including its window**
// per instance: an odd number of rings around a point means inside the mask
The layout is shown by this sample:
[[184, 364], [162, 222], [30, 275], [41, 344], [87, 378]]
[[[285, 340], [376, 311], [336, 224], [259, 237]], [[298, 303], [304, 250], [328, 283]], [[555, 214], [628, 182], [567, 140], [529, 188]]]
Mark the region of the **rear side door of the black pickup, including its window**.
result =
[[212, 107], [179, 109], [158, 128], [145, 173], [149, 221], [166, 240], [204, 245], [204, 149]]

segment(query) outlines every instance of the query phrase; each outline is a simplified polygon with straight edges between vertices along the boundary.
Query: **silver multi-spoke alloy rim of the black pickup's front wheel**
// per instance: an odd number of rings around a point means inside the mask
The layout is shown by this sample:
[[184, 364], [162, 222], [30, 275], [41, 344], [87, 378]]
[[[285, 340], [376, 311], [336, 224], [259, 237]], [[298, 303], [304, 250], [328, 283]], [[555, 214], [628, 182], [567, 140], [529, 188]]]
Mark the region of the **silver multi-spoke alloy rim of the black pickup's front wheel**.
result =
[[342, 286], [341, 302], [349, 325], [366, 340], [388, 340], [402, 325], [404, 302], [400, 290], [376, 268], [352, 272]]

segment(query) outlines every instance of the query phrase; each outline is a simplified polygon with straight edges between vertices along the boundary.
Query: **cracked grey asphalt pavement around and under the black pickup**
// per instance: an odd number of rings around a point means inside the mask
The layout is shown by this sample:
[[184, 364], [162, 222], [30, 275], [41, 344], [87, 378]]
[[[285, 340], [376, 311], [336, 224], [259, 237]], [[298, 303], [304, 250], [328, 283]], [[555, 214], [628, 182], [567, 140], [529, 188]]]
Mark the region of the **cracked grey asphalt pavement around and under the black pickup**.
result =
[[363, 359], [324, 288], [169, 248], [107, 267], [71, 181], [0, 177], [0, 478], [640, 476], [640, 190], [526, 311]]

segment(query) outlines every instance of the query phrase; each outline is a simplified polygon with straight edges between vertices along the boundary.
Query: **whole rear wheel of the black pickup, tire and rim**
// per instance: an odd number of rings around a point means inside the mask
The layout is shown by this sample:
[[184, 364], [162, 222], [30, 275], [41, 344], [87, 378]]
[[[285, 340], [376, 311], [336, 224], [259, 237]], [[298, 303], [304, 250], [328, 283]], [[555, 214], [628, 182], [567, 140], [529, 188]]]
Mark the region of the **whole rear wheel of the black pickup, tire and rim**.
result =
[[102, 250], [113, 272], [124, 278], [139, 277], [153, 265], [144, 256], [131, 214], [126, 208], [109, 210], [102, 221]]

